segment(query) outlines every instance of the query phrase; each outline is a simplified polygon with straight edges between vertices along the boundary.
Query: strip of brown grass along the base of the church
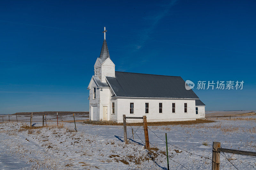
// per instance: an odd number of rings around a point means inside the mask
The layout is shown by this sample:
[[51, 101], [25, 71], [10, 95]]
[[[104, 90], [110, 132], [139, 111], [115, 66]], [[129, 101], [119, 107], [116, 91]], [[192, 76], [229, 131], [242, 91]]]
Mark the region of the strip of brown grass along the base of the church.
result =
[[[142, 120], [141, 120], [142, 122]], [[212, 123], [216, 122], [213, 120], [204, 120], [204, 119], [196, 119], [195, 121], [173, 121], [173, 122], [147, 122], [148, 126], [165, 126], [165, 125], [190, 125], [190, 124], [198, 124], [198, 123]], [[104, 122], [104, 121], [85, 121], [85, 124], [94, 124], [94, 125], [117, 125], [123, 126], [123, 123], [117, 122]], [[129, 123], [131, 126], [140, 126], [141, 123]]]

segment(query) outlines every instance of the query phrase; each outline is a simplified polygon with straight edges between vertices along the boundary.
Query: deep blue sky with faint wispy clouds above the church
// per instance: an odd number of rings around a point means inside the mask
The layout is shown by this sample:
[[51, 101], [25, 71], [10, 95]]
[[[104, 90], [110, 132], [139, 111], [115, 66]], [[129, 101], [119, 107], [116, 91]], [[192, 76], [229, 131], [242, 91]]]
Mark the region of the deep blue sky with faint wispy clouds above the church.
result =
[[1, 1], [0, 113], [88, 111], [103, 26], [116, 71], [244, 81], [194, 91], [255, 110], [255, 1]]

